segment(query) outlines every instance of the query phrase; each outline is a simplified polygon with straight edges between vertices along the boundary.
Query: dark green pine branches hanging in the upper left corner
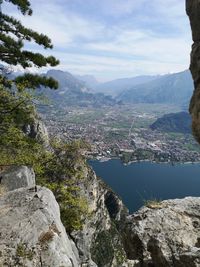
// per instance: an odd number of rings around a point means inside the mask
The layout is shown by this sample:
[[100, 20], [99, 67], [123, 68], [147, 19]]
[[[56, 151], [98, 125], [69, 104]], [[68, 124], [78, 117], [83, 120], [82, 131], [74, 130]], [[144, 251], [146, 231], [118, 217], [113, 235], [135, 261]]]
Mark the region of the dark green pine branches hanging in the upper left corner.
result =
[[[56, 66], [59, 61], [53, 57], [45, 57], [40, 53], [34, 53], [24, 48], [26, 42], [34, 42], [44, 49], [52, 49], [53, 45], [49, 37], [39, 34], [32, 29], [24, 27], [19, 20], [3, 13], [4, 2], [10, 2], [17, 6], [24, 16], [31, 16], [32, 9], [28, 0], [0, 0], [0, 61], [8, 65], [20, 65], [27, 67]], [[2, 74], [2, 70], [0, 72]], [[56, 89], [58, 83], [52, 78], [44, 78], [38, 75], [26, 74], [14, 80], [17, 87], [22, 84], [29, 88], [39, 85]]]

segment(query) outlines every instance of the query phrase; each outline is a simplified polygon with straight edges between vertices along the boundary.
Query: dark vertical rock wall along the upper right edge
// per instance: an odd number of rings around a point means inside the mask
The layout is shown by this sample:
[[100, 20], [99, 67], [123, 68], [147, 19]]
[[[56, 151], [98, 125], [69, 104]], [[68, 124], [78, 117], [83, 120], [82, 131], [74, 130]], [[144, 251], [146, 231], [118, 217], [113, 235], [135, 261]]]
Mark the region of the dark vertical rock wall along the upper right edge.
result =
[[194, 93], [190, 102], [189, 111], [192, 115], [192, 130], [200, 143], [200, 1], [186, 0], [186, 11], [192, 28], [192, 52], [190, 71], [194, 80]]

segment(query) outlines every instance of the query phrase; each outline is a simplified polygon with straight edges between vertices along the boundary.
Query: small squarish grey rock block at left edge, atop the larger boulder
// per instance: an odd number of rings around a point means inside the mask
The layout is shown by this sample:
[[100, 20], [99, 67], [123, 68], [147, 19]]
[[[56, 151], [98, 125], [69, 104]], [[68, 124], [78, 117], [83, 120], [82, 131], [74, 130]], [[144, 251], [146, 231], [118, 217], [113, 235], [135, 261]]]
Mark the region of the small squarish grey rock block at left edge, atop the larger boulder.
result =
[[13, 166], [1, 173], [1, 185], [5, 191], [35, 186], [35, 173], [26, 166]]

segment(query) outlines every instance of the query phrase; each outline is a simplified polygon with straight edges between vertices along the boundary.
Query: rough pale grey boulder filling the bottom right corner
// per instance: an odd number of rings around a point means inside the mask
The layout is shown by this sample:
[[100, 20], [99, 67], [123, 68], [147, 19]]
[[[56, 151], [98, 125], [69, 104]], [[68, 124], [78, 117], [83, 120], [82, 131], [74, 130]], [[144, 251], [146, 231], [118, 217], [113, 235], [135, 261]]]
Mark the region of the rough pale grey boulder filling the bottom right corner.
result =
[[200, 266], [200, 198], [166, 200], [128, 217], [128, 258], [139, 267]]

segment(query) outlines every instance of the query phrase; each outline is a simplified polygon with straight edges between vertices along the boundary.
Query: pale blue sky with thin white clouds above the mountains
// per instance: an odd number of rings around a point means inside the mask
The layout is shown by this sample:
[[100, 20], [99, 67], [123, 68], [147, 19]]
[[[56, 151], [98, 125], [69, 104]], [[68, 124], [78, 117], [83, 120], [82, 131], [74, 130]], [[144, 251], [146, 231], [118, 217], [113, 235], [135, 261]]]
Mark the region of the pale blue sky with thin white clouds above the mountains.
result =
[[185, 0], [32, 0], [33, 15], [4, 3], [2, 11], [47, 34], [56, 69], [108, 81], [166, 74], [189, 66], [191, 31]]

